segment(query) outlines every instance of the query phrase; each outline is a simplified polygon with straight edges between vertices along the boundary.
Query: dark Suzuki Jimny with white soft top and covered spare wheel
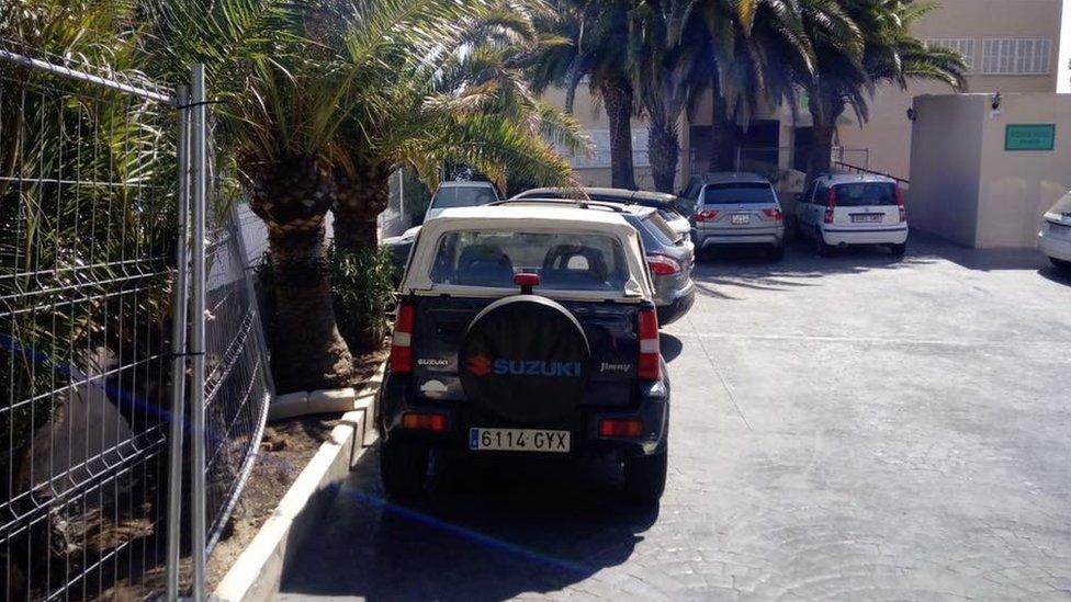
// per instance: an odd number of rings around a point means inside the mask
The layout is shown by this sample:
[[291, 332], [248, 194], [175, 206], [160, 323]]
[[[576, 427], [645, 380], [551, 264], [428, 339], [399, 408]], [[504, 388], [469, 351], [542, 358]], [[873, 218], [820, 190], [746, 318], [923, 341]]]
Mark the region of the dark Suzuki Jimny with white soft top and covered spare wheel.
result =
[[417, 238], [376, 396], [381, 475], [426, 492], [442, 454], [609, 456], [665, 487], [670, 384], [640, 235], [621, 213], [448, 209]]

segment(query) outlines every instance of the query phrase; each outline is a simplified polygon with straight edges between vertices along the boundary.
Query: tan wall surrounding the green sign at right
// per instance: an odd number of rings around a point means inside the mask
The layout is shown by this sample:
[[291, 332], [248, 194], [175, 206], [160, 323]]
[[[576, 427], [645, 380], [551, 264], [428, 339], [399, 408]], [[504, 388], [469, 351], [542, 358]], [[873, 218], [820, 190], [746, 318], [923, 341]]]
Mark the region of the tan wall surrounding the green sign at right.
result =
[[[1071, 95], [915, 99], [909, 219], [976, 248], [1034, 247], [1041, 214], [1071, 190]], [[1008, 124], [1057, 125], [1053, 151], [1006, 151]]]

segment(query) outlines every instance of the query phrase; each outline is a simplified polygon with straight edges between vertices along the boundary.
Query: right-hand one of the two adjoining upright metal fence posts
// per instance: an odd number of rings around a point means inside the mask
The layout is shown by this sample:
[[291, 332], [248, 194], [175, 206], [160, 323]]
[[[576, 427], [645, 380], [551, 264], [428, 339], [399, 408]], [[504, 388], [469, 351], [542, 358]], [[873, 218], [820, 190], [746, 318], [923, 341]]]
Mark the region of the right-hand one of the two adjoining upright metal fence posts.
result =
[[191, 189], [193, 211], [192, 232], [193, 232], [193, 306], [191, 317], [193, 328], [191, 330], [190, 354], [193, 360], [193, 376], [190, 379], [190, 414], [192, 428], [191, 452], [191, 487], [190, 496], [192, 503], [192, 530], [191, 543], [193, 546], [193, 600], [201, 602], [204, 600], [205, 588], [205, 548], [207, 538], [207, 520], [205, 511], [205, 432], [204, 432], [204, 295], [205, 295], [205, 251], [204, 251], [204, 223], [205, 203], [207, 195], [207, 152], [205, 133], [207, 123], [205, 120], [205, 92], [204, 92], [204, 65], [196, 64], [192, 69], [192, 86], [190, 93], [190, 104], [192, 105], [192, 132], [191, 132], [191, 158], [193, 160], [191, 170]]

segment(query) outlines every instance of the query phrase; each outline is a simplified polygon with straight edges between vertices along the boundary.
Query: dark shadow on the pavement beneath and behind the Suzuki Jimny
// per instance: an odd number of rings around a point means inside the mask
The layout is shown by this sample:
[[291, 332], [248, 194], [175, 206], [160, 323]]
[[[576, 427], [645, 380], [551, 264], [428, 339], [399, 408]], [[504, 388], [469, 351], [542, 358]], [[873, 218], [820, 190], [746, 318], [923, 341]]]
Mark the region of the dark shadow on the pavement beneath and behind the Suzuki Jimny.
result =
[[283, 569], [285, 597], [501, 600], [552, 592], [624, 563], [657, 509], [620, 501], [604, 462], [449, 458], [419, 507], [385, 501], [379, 448], [342, 484]]

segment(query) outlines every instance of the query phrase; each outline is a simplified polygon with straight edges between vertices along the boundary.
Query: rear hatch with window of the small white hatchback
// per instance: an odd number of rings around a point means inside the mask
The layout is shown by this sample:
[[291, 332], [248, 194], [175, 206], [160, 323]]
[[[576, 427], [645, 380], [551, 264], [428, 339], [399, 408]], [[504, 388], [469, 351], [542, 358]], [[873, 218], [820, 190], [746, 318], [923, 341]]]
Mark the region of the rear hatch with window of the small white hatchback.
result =
[[[893, 182], [846, 182], [832, 189], [833, 220], [823, 222], [826, 228], [841, 231], [876, 230], [901, 224], [900, 193]], [[830, 194], [828, 192], [826, 193]], [[830, 200], [816, 197], [827, 213]]]

